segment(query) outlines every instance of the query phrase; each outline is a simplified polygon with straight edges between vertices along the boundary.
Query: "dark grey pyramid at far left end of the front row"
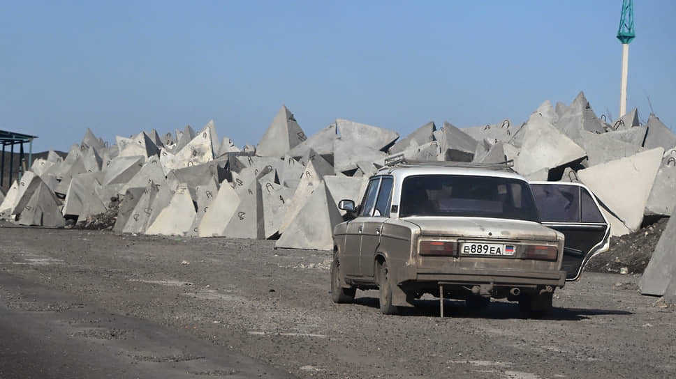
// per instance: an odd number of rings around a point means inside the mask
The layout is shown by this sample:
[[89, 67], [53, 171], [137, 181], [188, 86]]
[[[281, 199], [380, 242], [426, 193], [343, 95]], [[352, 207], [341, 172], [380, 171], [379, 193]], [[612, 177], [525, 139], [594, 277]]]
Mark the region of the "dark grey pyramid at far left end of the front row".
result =
[[57, 196], [54, 195], [54, 192], [40, 180], [38, 186], [34, 189], [33, 194], [31, 194], [30, 199], [21, 211], [19, 224], [47, 226], [50, 228], [60, 228], [65, 226], [66, 220], [61, 216], [59, 206], [61, 206], [61, 201], [59, 201]]

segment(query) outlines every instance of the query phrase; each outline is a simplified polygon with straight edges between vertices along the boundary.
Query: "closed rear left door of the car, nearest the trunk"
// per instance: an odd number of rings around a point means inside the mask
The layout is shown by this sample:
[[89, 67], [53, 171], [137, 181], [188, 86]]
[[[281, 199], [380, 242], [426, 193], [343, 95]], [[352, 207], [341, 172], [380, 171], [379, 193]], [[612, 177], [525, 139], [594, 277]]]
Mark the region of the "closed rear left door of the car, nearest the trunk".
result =
[[383, 223], [390, 217], [390, 196], [393, 182], [392, 176], [381, 176], [373, 210], [370, 215], [364, 216], [362, 247], [359, 254], [359, 274], [362, 277], [374, 276], [374, 257], [380, 245]]

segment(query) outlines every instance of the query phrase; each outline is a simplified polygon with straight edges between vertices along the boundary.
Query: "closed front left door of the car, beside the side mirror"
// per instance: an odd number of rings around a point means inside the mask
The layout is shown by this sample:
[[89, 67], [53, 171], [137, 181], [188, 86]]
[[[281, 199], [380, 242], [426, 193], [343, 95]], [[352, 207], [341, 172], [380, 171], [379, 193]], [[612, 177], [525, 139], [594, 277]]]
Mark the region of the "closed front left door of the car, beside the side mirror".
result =
[[362, 233], [364, 231], [365, 220], [370, 217], [376, 203], [380, 177], [372, 178], [366, 188], [366, 192], [359, 206], [358, 215], [351, 222], [348, 222], [345, 235], [345, 250], [341, 260], [341, 268], [346, 275], [359, 276], [359, 258], [362, 247]]

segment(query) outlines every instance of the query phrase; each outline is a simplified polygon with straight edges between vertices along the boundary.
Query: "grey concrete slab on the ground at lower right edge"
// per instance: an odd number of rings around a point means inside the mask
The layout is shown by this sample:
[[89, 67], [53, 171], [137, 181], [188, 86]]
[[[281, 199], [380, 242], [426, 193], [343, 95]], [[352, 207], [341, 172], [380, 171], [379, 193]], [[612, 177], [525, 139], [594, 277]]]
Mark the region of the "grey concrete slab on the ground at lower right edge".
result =
[[[662, 296], [676, 277], [676, 208], [657, 242], [638, 287], [643, 295]], [[671, 294], [670, 294], [671, 295]]]

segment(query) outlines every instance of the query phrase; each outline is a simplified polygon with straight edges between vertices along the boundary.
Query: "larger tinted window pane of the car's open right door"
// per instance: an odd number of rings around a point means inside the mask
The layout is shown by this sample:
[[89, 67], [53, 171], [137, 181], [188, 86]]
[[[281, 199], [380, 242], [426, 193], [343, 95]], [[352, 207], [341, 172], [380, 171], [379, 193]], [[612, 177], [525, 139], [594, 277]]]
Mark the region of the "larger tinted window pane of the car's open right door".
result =
[[531, 184], [543, 222], [580, 222], [580, 187]]

